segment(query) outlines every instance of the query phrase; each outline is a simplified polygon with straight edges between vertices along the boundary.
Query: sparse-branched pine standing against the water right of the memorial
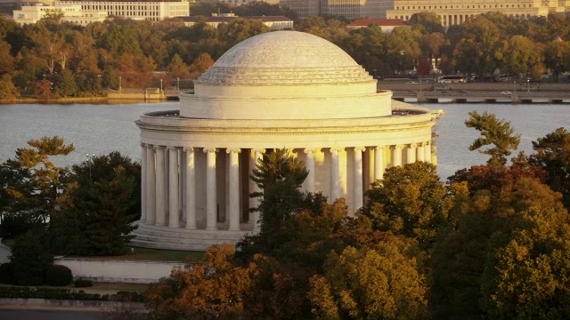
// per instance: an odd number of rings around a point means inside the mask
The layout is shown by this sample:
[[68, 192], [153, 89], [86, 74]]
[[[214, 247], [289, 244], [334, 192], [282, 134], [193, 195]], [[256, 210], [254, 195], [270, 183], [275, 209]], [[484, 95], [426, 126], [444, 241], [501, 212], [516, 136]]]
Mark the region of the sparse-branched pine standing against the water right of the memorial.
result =
[[[476, 111], [471, 111], [465, 125], [468, 128], [475, 128], [481, 133], [481, 137], [473, 141], [469, 150], [479, 150], [479, 152], [491, 156], [487, 164], [492, 167], [507, 164], [507, 156], [510, 156], [512, 150], [518, 148], [520, 134], [513, 134], [514, 131], [510, 127], [510, 123], [497, 119], [493, 114], [485, 111], [483, 115], [479, 115]], [[493, 145], [493, 148], [480, 150], [487, 145]]]

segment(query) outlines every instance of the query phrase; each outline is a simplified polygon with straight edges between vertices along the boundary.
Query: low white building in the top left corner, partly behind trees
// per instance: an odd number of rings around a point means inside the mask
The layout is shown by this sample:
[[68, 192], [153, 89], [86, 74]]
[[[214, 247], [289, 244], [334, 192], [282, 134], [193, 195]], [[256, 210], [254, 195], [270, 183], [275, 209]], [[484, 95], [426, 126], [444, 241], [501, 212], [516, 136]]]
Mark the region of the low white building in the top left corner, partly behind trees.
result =
[[44, 18], [46, 14], [58, 12], [63, 14], [61, 20], [81, 26], [86, 26], [89, 23], [102, 21], [107, 18], [107, 12], [84, 12], [81, 10], [80, 5], [36, 4], [25, 5], [21, 7], [21, 10], [14, 10], [13, 20], [19, 25], [36, 23]]

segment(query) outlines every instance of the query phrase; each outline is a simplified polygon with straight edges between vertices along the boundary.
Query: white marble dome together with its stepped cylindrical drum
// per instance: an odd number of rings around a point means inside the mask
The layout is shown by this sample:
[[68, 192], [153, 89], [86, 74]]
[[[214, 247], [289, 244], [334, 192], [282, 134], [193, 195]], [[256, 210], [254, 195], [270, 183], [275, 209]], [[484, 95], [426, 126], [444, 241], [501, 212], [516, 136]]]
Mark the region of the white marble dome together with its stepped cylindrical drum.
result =
[[390, 116], [391, 92], [337, 45], [297, 31], [253, 36], [225, 52], [180, 95], [199, 119], [338, 119]]

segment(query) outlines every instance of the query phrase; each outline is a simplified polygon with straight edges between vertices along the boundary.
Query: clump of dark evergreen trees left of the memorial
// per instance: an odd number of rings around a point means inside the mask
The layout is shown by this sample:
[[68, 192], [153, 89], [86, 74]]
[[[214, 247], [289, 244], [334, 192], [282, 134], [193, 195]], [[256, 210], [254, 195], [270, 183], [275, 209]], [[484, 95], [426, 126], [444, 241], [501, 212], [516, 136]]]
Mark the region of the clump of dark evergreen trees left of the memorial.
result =
[[[69, 154], [73, 145], [59, 137], [30, 140], [28, 145], [0, 164], [0, 236], [17, 239], [13, 252], [23, 244], [53, 254], [125, 252], [133, 237], [132, 222], [140, 217], [140, 164], [111, 152], [69, 169], [56, 166], [51, 157]], [[31, 241], [38, 236], [41, 241]], [[31, 274], [43, 278], [45, 269]]]

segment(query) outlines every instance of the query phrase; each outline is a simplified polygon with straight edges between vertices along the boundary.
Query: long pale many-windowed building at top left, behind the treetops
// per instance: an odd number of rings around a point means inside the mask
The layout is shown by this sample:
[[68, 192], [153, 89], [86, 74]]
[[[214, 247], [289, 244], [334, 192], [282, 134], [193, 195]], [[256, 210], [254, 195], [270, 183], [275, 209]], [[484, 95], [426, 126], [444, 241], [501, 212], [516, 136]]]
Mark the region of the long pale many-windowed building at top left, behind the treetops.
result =
[[84, 12], [107, 12], [109, 16], [133, 20], [159, 21], [167, 18], [187, 17], [188, 2], [116, 2], [116, 1], [61, 1], [56, 4], [81, 6]]

